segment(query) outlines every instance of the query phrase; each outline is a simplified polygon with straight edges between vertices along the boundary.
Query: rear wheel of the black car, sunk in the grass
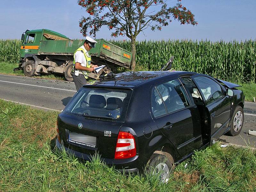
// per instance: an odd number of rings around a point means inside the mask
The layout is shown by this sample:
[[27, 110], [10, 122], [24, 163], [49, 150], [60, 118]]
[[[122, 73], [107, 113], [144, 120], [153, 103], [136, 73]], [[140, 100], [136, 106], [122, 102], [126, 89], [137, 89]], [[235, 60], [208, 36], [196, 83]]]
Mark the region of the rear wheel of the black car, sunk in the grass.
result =
[[167, 152], [163, 154], [154, 153], [150, 157], [147, 171], [150, 175], [157, 176], [160, 182], [167, 183], [175, 166], [172, 155]]

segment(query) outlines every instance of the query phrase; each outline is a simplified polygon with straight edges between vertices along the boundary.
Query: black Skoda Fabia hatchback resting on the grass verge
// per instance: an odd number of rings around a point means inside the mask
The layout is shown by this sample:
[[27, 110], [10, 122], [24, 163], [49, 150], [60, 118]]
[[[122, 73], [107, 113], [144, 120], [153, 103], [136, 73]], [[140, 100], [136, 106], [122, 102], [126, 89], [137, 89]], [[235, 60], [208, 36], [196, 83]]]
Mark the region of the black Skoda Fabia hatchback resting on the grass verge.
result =
[[154, 168], [166, 182], [174, 163], [244, 121], [239, 85], [181, 71], [124, 72], [84, 85], [57, 119], [57, 148], [84, 160], [99, 153], [125, 172]]

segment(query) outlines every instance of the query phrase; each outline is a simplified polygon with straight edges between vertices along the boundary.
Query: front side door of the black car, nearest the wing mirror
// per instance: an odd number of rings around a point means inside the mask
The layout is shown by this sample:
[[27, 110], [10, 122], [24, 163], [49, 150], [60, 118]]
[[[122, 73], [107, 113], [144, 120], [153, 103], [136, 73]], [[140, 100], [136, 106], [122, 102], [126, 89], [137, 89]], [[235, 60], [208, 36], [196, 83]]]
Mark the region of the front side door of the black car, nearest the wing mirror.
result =
[[221, 85], [209, 76], [195, 75], [192, 80], [204, 100], [207, 112], [206, 124], [210, 124], [211, 140], [218, 140], [228, 131], [230, 121], [230, 98], [225, 95]]

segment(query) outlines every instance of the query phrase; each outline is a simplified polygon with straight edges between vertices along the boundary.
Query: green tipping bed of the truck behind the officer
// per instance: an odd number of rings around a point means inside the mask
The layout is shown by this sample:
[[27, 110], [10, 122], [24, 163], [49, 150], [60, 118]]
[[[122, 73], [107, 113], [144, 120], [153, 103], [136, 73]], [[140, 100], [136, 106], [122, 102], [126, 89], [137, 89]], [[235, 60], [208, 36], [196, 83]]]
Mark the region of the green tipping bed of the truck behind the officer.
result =
[[[98, 42], [90, 50], [91, 56], [101, 63], [119, 65], [130, 68], [132, 53], [111, 44], [104, 39], [96, 39]], [[41, 41], [38, 54], [74, 55], [76, 49], [84, 44], [84, 40], [46, 40]]]

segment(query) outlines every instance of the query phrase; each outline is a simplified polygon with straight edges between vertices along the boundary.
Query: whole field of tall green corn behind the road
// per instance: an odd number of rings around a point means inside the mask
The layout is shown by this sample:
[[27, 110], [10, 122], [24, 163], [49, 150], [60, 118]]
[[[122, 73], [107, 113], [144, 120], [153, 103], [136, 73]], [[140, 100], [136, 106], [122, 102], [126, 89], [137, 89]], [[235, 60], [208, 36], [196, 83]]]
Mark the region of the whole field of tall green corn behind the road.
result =
[[[111, 41], [131, 51], [129, 41]], [[17, 63], [20, 40], [0, 40], [0, 62]], [[159, 70], [171, 56], [173, 68], [208, 74], [234, 83], [256, 83], [256, 41], [140, 41], [136, 42], [136, 66]]]

